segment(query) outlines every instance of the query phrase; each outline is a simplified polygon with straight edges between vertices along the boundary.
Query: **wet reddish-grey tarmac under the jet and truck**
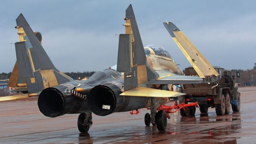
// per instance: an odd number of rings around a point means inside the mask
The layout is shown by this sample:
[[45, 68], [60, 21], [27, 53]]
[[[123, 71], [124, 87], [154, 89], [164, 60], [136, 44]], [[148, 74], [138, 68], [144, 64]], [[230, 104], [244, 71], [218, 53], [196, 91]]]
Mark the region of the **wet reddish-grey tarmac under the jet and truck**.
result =
[[146, 109], [133, 116], [129, 112], [93, 115], [93, 126], [81, 134], [78, 114], [48, 118], [38, 110], [35, 97], [0, 102], [0, 143], [256, 143], [256, 87], [239, 88], [239, 92], [240, 112], [216, 116], [210, 108], [208, 114], [197, 109], [195, 117], [172, 114], [165, 132], [145, 126]]

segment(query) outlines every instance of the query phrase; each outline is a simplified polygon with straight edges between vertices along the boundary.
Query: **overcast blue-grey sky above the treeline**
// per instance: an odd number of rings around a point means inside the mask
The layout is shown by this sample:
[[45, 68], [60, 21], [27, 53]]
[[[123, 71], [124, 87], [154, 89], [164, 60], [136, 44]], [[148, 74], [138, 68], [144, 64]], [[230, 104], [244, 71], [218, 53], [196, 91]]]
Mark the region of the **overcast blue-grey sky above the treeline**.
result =
[[170, 21], [213, 66], [253, 68], [256, 62], [256, 1], [212, 0], [18, 0], [0, 2], [0, 73], [16, 61], [15, 19], [20, 13], [43, 35], [42, 45], [63, 72], [99, 71], [116, 64], [118, 35], [125, 33], [131, 3], [143, 45], [163, 46], [180, 64], [190, 66], [169, 36]]

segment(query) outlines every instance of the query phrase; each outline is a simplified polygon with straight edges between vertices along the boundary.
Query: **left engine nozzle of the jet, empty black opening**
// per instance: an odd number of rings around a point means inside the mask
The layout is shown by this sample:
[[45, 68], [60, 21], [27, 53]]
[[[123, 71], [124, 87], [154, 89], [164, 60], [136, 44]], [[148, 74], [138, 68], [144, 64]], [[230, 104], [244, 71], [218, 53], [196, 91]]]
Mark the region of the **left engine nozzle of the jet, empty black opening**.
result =
[[[66, 113], [83, 113], [88, 111], [87, 102], [73, 95], [66, 95], [67, 87], [58, 85], [42, 90], [38, 97], [41, 113], [48, 117], [62, 116]], [[81, 109], [82, 108], [82, 109]]]

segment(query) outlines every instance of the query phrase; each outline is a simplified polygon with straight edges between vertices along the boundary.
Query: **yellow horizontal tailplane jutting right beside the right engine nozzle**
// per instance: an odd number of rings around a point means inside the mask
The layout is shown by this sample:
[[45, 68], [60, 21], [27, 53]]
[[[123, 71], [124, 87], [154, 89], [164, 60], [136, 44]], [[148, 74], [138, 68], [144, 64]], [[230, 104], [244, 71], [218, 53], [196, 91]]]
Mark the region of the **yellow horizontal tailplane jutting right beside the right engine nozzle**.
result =
[[145, 97], [177, 97], [183, 96], [185, 93], [177, 93], [169, 90], [158, 90], [154, 88], [137, 87], [127, 90], [120, 96], [145, 96]]

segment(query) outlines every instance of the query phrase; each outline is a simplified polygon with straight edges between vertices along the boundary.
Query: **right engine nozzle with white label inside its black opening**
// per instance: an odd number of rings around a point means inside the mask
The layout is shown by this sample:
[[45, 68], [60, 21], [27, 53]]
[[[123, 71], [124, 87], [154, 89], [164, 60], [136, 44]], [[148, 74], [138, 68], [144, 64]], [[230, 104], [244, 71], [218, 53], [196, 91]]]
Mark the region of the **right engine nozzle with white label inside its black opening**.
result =
[[89, 109], [98, 116], [116, 112], [123, 102], [123, 96], [119, 96], [120, 93], [119, 87], [111, 83], [94, 87], [87, 96]]

